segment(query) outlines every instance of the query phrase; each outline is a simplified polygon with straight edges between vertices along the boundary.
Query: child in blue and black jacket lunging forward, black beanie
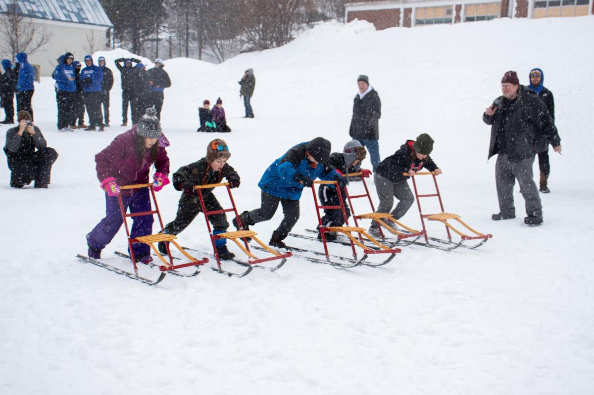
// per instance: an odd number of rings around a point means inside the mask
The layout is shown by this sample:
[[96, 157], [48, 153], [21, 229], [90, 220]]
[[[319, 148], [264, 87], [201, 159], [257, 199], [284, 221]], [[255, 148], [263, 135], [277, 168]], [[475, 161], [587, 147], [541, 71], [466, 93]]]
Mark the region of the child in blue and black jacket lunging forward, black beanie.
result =
[[283, 240], [299, 219], [299, 199], [304, 187], [311, 187], [317, 178], [336, 180], [340, 187], [347, 183], [346, 177], [340, 176], [336, 169], [328, 164], [330, 149], [330, 141], [321, 137], [289, 149], [264, 171], [258, 183], [262, 190], [260, 208], [242, 212], [239, 215], [241, 226], [236, 219], [233, 219], [233, 225], [238, 230], [249, 230], [249, 225], [272, 218], [280, 203], [285, 217], [273, 232], [268, 244], [287, 248]]

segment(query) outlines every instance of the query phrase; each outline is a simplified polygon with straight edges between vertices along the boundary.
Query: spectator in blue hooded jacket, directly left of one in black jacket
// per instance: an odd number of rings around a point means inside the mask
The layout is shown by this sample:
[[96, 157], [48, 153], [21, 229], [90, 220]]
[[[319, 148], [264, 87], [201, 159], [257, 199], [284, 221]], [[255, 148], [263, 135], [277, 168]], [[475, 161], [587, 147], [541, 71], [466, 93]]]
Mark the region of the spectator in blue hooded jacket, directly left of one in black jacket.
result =
[[93, 65], [91, 55], [84, 57], [86, 68], [80, 71], [80, 84], [83, 86], [84, 105], [89, 113], [89, 128], [84, 130], [97, 130], [103, 132], [103, 115], [101, 113], [101, 101], [103, 93], [101, 82], [103, 81], [103, 71], [99, 66]]

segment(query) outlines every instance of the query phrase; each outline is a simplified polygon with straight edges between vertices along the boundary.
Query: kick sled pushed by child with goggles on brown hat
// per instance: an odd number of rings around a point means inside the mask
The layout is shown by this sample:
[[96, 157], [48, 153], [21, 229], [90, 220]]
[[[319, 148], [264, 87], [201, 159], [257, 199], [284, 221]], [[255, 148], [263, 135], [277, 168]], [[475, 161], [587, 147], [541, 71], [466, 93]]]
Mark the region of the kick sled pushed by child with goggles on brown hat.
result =
[[[226, 189], [227, 189], [227, 193], [229, 194], [229, 200], [231, 202], [232, 207], [228, 208], [228, 209], [207, 211], [206, 205], [204, 204], [202, 190], [207, 189], [207, 188], [216, 188], [216, 187], [222, 187], [222, 186], [226, 187]], [[213, 232], [210, 228], [210, 222], [208, 221], [209, 215], [221, 214], [221, 213], [232, 211], [235, 214], [237, 223], [241, 226], [241, 220], [239, 219], [239, 214], [237, 212], [237, 208], [235, 207], [235, 201], [233, 200], [233, 195], [231, 193], [231, 188], [229, 186], [229, 183], [197, 185], [194, 188], [198, 190], [198, 198], [200, 199], [200, 206], [202, 208], [202, 212], [204, 213], [204, 219], [206, 220], [208, 234], [210, 234], [210, 241], [213, 245], [214, 258], [217, 261], [217, 267], [211, 267], [211, 269], [213, 269], [216, 272], [226, 274], [228, 276], [243, 277], [245, 275], [248, 275], [248, 273], [251, 272], [252, 269], [254, 269], [254, 267], [261, 267], [261, 268], [266, 268], [266, 269], [270, 269], [270, 270], [277, 270], [277, 269], [280, 269], [281, 266], [285, 265], [285, 262], [286, 262], [287, 258], [291, 256], [291, 253], [286, 252], [284, 254], [281, 254], [281, 253], [271, 249], [266, 244], [264, 244], [259, 238], [256, 237], [257, 233], [254, 231], [239, 230], [239, 231], [225, 232], [225, 233], [219, 233], [219, 234], [213, 235]], [[254, 254], [252, 254], [252, 252], [249, 250], [248, 238], [251, 238], [256, 243], [260, 244], [261, 248], [264, 251], [266, 251], [267, 253], [270, 253], [272, 256], [266, 257], [266, 258], [258, 258]], [[215, 245], [215, 241], [217, 239], [227, 239], [227, 240], [233, 241], [233, 243], [235, 243], [239, 247], [239, 249], [244, 254], [246, 254], [248, 256], [247, 262], [242, 262], [240, 260], [235, 260], [235, 259], [232, 260], [232, 262], [238, 263], [239, 265], [248, 266], [247, 270], [245, 270], [244, 272], [241, 272], [241, 273], [235, 273], [235, 272], [229, 272], [227, 270], [223, 270], [220, 259], [219, 259], [219, 254], [217, 253], [217, 248]], [[276, 266], [259, 265], [260, 263], [270, 262], [273, 260], [280, 260], [280, 263], [278, 263]]]

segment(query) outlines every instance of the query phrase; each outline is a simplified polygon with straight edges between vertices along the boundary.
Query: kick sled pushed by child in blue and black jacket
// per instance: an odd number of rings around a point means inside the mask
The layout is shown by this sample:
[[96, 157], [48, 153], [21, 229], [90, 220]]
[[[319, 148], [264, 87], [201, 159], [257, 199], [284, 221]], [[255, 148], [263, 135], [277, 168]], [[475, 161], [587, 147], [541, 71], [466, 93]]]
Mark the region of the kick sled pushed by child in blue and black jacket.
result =
[[[392, 260], [394, 258], [396, 253], [399, 253], [401, 251], [400, 249], [390, 248], [390, 247], [385, 246], [384, 244], [381, 244], [379, 241], [375, 240], [375, 238], [373, 238], [371, 235], [369, 235], [364, 228], [356, 227], [356, 226], [355, 227], [349, 226], [349, 219], [347, 218], [347, 215], [346, 215], [345, 202], [342, 198], [342, 193], [340, 192], [340, 187], [338, 186], [338, 183], [336, 181], [317, 180], [317, 181], [313, 181], [313, 183], [314, 184], [334, 184], [334, 186], [336, 187], [337, 195], [339, 197], [340, 205], [339, 206], [321, 206], [320, 204], [318, 204], [318, 198], [315, 195], [315, 187], [314, 186], [311, 187], [312, 195], [314, 196], [315, 212], [318, 216], [318, 224], [320, 227], [322, 244], [324, 245], [324, 253], [318, 253], [318, 251], [310, 251], [310, 252], [312, 252], [314, 254], [318, 254], [318, 255], [323, 254], [326, 257], [326, 262], [324, 262], [321, 259], [315, 259], [315, 258], [312, 259], [311, 257], [301, 255], [301, 254], [299, 255], [300, 257], [303, 257], [304, 259], [312, 260], [313, 262], [328, 263], [329, 265], [339, 266], [339, 267], [355, 267], [358, 265], [383, 266], [383, 265], [386, 265], [386, 263], [390, 262], [390, 260]], [[340, 209], [342, 211], [343, 218], [345, 219], [346, 226], [323, 227], [322, 219], [320, 216], [320, 209]], [[352, 250], [352, 256], [353, 256], [352, 259], [342, 257], [342, 256], [337, 256], [337, 255], [330, 255], [330, 253], [328, 253], [328, 241], [326, 240], [327, 232], [336, 232], [339, 234], [343, 234], [348, 238], [349, 245]], [[358, 240], [353, 235], [353, 232], [358, 233], [359, 238], [365, 237], [367, 240], [371, 241], [371, 243], [374, 244], [374, 248], [371, 248], [371, 247], [363, 244], [360, 240]], [[289, 235], [291, 235], [293, 237], [308, 238], [307, 236], [304, 237], [303, 235], [293, 234], [293, 233], [290, 233]], [[315, 239], [315, 240], [317, 240], [317, 239]], [[361, 257], [361, 259], [358, 259], [357, 250], [355, 247], [359, 247], [363, 250], [363, 256]], [[305, 250], [305, 251], [307, 251], [307, 250]], [[380, 263], [366, 262], [366, 259], [368, 258], [368, 256], [370, 254], [390, 254], [390, 256], [388, 256], [383, 262], [380, 262]], [[333, 260], [333, 259], [339, 259], [339, 260], [343, 260], [343, 261], [346, 260], [349, 263], [340, 263], [340, 262], [336, 262], [336, 260]]]

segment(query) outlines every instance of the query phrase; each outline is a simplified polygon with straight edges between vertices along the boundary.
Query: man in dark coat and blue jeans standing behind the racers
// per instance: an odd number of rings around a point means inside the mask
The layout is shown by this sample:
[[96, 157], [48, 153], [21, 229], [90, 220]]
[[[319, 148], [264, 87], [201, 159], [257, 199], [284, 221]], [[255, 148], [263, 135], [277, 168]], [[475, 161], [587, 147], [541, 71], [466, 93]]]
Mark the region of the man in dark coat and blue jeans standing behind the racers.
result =
[[369, 85], [366, 75], [357, 78], [359, 93], [353, 102], [353, 117], [350, 120], [349, 135], [359, 140], [369, 151], [373, 170], [380, 164], [380, 117], [381, 101], [377, 91]]

